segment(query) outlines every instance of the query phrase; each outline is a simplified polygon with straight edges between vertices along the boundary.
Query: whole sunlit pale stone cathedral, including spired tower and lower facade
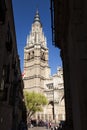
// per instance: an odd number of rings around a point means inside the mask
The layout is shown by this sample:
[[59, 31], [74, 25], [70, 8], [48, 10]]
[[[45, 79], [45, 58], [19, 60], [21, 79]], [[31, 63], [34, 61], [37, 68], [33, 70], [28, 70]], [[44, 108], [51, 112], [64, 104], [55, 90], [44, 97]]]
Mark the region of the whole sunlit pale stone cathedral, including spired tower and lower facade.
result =
[[44, 93], [49, 101], [43, 112], [35, 115], [35, 119], [59, 122], [65, 120], [63, 70], [62, 67], [58, 67], [57, 73], [51, 76], [48, 53], [46, 37], [37, 10], [24, 47], [24, 89]]

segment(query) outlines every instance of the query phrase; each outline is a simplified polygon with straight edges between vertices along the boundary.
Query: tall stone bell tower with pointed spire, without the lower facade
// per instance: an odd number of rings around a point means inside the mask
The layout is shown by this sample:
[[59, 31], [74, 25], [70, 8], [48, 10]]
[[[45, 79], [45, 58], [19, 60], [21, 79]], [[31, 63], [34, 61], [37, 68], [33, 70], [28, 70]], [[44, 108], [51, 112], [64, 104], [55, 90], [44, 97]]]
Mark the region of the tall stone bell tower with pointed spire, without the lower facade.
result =
[[44, 81], [50, 76], [48, 48], [38, 10], [24, 48], [24, 86], [26, 90], [43, 92]]

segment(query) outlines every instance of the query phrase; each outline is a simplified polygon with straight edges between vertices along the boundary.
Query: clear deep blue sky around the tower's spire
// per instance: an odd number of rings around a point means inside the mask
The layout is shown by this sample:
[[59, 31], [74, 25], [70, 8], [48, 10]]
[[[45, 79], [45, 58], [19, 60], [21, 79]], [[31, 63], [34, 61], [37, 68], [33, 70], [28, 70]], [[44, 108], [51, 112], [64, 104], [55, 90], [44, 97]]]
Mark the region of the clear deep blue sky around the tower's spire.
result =
[[26, 45], [26, 38], [31, 30], [31, 25], [38, 8], [43, 31], [47, 38], [51, 74], [56, 73], [57, 67], [62, 66], [62, 62], [60, 58], [60, 50], [52, 43], [50, 0], [12, 0], [12, 2], [21, 71], [23, 71], [24, 65], [24, 47]]

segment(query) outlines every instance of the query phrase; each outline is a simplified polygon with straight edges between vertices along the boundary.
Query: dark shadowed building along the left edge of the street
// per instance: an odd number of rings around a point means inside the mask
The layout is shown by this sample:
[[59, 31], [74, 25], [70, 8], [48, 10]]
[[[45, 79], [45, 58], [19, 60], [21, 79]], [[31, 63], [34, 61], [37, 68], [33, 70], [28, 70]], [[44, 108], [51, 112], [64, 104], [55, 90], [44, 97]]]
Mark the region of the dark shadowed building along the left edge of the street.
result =
[[23, 88], [12, 1], [0, 0], [0, 130], [18, 130], [26, 118]]

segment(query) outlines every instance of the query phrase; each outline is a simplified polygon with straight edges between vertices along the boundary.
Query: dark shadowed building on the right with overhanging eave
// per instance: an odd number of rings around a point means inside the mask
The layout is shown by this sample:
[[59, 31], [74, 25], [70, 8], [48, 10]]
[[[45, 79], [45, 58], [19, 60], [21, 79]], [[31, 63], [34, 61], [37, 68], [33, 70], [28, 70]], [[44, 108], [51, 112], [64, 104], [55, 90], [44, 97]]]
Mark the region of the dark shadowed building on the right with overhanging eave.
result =
[[50, 0], [52, 32], [63, 63], [63, 130], [87, 129], [87, 0]]

